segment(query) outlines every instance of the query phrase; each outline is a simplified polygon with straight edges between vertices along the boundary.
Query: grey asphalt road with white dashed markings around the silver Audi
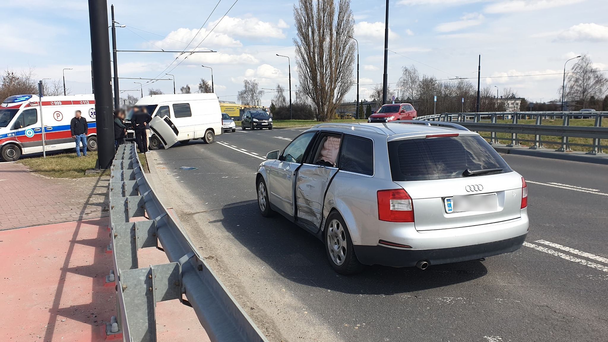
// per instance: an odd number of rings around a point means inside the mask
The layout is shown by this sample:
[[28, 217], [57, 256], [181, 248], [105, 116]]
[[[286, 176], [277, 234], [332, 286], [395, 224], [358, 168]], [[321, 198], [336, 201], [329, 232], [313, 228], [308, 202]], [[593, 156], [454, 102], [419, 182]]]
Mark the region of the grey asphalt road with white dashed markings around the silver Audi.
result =
[[341, 276], [319, 240], [255, 203], [261, 159], [303, 130], [151, 155], [193, 242], [270, 340], [608, 341], [608, 166], [505, 155], [528, 181], [519, 251]]

